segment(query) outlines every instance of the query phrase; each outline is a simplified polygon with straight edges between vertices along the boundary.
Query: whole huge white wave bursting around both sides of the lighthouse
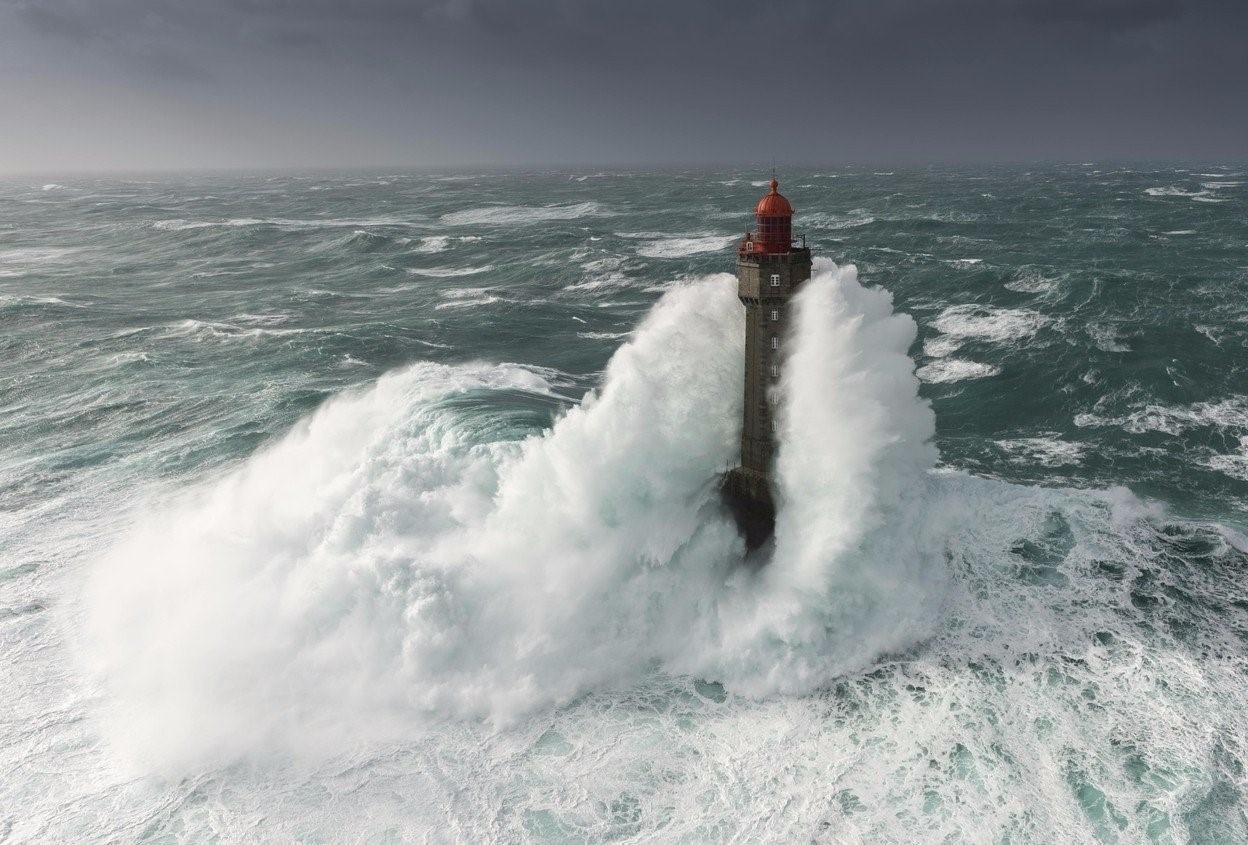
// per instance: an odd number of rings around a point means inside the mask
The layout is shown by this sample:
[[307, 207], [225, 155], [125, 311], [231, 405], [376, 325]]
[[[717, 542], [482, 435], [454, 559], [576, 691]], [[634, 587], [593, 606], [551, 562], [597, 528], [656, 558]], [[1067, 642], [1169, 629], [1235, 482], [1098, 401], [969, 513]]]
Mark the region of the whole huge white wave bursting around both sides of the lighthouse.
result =
[[151, 506], [94, 569], [87, 657], [145, 765], [499, 725], [659, 670], [799, 693], [905, 648], [943, 589], [915, 323], [816, 263], [780, 384], [781, 510], [743, 565], [735, 281], [666, 293], [600, 389], [524, 441], [457, 399], [519, 364], [416, 364]]

